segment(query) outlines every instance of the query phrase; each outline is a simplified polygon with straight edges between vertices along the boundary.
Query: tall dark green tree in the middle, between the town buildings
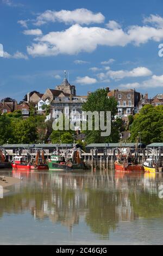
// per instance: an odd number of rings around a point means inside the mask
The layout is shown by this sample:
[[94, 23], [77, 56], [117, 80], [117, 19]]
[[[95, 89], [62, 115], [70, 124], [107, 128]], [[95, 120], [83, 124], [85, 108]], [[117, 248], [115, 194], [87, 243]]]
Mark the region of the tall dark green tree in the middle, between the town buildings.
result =
[[[122, 120], [120, 118], [116, 119], [117, 114], [117, 101], [115, 97], [108, 98], [108, 93], [105, 89], [98, 89], [91, 93], [87, 101], [83, 104], [83, 111], [110, 111], [111, 112], [111, 135], [108, 137], [101, 136], [101, 129], [99, 131], [85, 131], [86, 142], [87, 143], [105, 143], [105, 142], [118, 142], [120, 139], [120, 129], [122, 128]], [[106, 125], [106, 117], [104, 119]], [[95, 120], [93, 120], [95, 123]]]

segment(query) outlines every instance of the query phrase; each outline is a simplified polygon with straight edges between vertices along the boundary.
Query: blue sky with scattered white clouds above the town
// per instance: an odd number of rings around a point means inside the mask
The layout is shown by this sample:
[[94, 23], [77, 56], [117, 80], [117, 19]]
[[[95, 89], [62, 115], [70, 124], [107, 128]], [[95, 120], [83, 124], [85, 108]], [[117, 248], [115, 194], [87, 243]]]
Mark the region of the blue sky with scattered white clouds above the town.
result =
[[0, 0], [0, 99], [55, 88], [163, 93], [163, 2]]

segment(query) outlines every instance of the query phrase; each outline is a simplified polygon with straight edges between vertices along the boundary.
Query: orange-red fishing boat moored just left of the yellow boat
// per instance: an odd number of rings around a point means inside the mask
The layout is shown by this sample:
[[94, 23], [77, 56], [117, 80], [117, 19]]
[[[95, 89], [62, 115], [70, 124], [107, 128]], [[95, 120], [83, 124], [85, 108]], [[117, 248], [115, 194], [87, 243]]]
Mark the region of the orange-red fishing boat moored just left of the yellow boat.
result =
[[123, 172], [141, 172], [144, 170], [142, 164], [137, 161], [137, 142], [135, 151], [130, 148], [118, 149], [117, 160], [115, 161], [115, 170]]

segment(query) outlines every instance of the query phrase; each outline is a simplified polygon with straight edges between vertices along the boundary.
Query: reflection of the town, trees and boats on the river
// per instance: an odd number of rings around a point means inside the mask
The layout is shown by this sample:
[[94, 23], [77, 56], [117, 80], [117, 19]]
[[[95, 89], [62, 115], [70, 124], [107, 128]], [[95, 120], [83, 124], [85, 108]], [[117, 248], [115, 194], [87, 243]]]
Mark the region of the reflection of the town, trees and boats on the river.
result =
[[120, 223], [163, 218], [163, 199], [158, 197], [162, 174], [108, 171], [12, 175], [24, 179], [0, 201], [0, 224], [6, 214], [25, 212], [30, 212], [36, 221], [49, 220], [70, 231], [79, 228], [84, 220], [91, 234], [107, 240]]

